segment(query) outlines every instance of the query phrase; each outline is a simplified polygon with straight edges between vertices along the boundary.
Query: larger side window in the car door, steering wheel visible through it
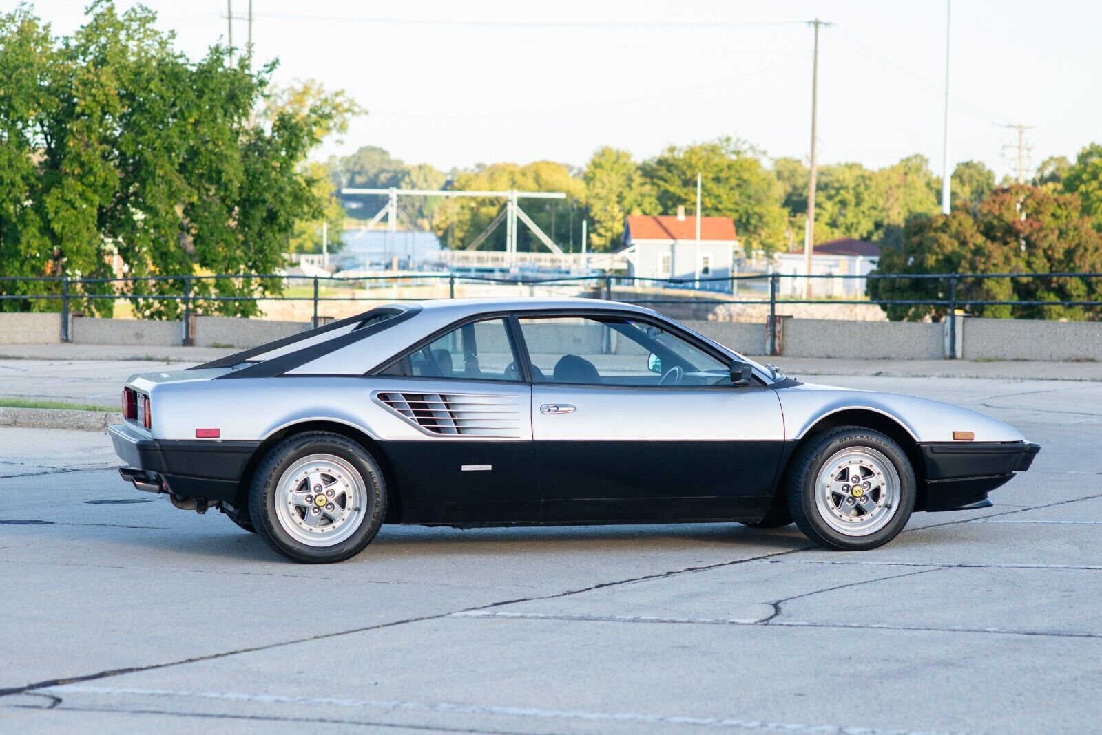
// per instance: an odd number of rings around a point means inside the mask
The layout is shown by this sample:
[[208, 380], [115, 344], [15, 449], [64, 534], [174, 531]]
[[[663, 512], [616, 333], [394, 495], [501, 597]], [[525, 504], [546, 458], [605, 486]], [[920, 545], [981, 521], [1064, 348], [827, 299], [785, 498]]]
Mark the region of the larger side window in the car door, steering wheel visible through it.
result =
[[537, 383], [731, 385], [730, 365], [658, 325], [620, 317], [520, 319]]

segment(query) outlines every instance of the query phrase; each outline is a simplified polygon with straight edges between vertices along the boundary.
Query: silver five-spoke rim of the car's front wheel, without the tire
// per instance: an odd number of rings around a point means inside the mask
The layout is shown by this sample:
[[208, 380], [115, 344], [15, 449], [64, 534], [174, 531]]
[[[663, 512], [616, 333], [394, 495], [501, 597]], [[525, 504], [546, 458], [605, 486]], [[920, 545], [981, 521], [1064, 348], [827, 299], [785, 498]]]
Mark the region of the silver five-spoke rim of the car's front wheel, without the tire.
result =
[[815, 480], [815, 507], [828, 526], [845, 536], [880, 530], [899, 509], [899, 473], [871, 447], [849, 447], [823, 462]]

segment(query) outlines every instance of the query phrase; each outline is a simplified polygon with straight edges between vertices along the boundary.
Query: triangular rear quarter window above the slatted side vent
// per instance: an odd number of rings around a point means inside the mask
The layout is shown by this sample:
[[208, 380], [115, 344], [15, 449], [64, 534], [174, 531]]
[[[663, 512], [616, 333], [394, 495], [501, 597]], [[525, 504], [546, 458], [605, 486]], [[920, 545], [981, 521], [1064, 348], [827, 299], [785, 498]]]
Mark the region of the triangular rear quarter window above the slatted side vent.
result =
[[451, 377], [479, 381], [522, 380], [505, 319], [486, 319], [456, 327], [378, 373], [404, 377]]

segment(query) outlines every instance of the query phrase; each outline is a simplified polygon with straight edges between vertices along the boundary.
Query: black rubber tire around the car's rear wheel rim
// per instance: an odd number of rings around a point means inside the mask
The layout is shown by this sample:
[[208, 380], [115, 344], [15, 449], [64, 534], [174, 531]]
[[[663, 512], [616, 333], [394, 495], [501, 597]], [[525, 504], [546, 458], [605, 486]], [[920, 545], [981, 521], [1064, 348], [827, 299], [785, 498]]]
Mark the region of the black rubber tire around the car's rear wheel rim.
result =
[[[338, 458], [358, 473], [366, 503], [366, 507], [356, 508], [358, 525], [350, 535], [331, 546], [310, 546], [296, 539], [283, 527], [276, 508], [283, 474], [296, 462], [318, 456]], [[386, 512], [387, 485], [378, 462], [359, 443], [327, 431], [296, 434], [272, 447], [257, 467], [249, 489], [249, 516], [257, 535], [280, 555], [302, 563], [333, 563], [356, 556], [379, 533]]]

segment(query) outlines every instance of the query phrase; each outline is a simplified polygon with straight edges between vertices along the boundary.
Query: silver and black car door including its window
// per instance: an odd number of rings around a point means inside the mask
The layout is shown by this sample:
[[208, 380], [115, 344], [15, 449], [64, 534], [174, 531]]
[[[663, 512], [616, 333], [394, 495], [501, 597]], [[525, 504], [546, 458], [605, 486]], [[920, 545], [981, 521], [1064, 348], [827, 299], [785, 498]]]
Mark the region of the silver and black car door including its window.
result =
[[754, 517], [784, 447], [776, 392], [634, 315], [518, 315], [548, 522]]

